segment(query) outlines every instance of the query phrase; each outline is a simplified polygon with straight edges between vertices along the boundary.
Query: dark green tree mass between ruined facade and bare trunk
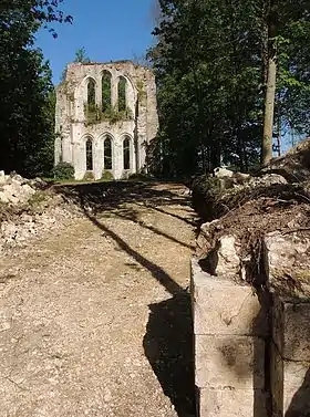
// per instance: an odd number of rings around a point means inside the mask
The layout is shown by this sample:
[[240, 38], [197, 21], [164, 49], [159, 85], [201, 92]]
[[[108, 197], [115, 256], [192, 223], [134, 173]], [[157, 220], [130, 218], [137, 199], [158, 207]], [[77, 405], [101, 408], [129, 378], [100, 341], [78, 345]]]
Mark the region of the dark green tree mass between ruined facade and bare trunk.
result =
[[161, 2], [164, 18], [151, 56], [164, 166], [175, 175], [211, 170], [221, 161], [246, 169], [257, 159], [259, 39], [244, 15], [258, 23], [252, 4], [239, 3]]

